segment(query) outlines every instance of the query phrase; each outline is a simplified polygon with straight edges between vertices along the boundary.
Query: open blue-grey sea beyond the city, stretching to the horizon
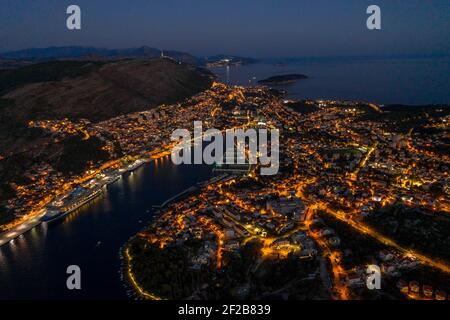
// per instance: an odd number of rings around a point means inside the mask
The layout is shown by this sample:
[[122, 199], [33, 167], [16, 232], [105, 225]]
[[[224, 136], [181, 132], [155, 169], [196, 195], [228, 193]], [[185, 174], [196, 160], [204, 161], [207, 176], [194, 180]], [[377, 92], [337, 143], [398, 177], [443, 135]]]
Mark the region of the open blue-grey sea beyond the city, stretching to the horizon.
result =
[[[249, 65], [209, 69], [218, 76], [218, 81], [242, 86], [260, 85], [258, 80], [276, 74], [308, 75], [308, 81], [278, 85], [287, 90], [292, 99], [359, 100], [420, 106], [450, 103], [449, 91], [444, 85], [448, 80], [442, 73], [449, 60], [448, 56], [299, 57], [261, 59]], [[436, 79], [435, 85], [424, 80], [430, 78]]]

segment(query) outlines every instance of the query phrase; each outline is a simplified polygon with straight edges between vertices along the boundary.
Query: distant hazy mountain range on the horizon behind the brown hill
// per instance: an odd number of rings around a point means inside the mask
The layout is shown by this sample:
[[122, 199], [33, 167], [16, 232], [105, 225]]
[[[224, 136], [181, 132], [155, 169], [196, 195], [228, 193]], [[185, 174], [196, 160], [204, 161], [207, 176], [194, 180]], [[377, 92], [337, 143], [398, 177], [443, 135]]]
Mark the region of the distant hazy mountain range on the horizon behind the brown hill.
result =
[[4, 52], [0, 54], [0, 68], [14, 68], [29, 65], [37, 62], [46, 62], [53, 60], [81, 60], [81, 61], [114, 61], [123, 59], [149, 59], [160, 56], [173, 58], [188, 64], [204, 66], [207, 63], [215, 62], [224, 58], [230, 61], [241, 61], [253, 63], [256, 60], [252, 58], [217, 55], [205, 58], [198, 58], [189, 53], [161, 50], [149, 46], [127, 49], [107, 49], [95, 47], [49, 47], [49, 48], [30, 48], [18, 51]]

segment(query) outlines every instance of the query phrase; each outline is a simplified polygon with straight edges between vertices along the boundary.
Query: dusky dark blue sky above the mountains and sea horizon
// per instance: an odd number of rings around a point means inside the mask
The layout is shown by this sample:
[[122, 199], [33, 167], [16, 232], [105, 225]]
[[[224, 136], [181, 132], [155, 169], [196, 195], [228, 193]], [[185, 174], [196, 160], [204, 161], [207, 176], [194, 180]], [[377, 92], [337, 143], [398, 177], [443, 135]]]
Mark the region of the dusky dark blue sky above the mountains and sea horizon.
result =
[[[449, 0], [0, 0], [0, 51], [149, 45], [254, 57], [450, 54]], [[78, 4], [82, 30], [68, 31]], [[366, 28], [366, 8], [382, 30]]]

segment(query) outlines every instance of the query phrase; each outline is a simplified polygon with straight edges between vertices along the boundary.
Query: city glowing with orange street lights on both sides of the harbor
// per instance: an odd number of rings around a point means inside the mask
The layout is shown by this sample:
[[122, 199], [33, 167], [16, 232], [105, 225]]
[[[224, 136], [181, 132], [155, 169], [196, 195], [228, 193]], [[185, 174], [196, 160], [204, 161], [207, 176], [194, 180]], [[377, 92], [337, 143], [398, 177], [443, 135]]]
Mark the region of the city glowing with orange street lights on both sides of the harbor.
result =
[[[102, 150], [110, 160], [91, 164], [71, 179], [45, 163], [31, 167], [27, 174], [33, 183], [18, 185], [17, 197], [8, 203], [17, 218], [2, 226], [7, 231], [2, 241], [37, 223], [45, 209], [74, 186], [95, 190], [146, 162], [170, 161], [171, 132], [192, 126], [194, 120], [222, 130], [276, 127], [283, 128], [277, 175], [261, 176], [257, 166], [241, 170], [238, 165], [227, 169], [216, 165], [210, 181], [159, 208], [155, 222], [131, 240], [125, 258], [136, 292], [152, 299], [186, 298], [187, 289], [202, 299], [226, 298], [230, 292], [235, 292], [234, 298], [264, 298], [271, 290], [296, 298], [357, 299], [368, 294], [365, 272], [371, 261], [365, 257], [371, 256], [391, 282], [389, 294], [446, 299], [446, 291], [439, 288], [442, 283], [425, 282], [428, 279], [417, 270], [445, 279], [450, 272], [448, 240], [443, 239], [442, 247], [429, 247], [419, 238], [413, 246], [404, 238], [390, 237], [390, 225], [380, 223], [379, 216], [396, 213], [412, 215], [411, 228], [420, 219], [448, 224], [449, 159], [438, 151], [445, 136], [424, 136], [408, 129], [419, 121], [425, 121], [420, 130], [445, 126], [450, 120], [448, 109], [436, 107], [427, 114], [418, 110], [408, 116], [399, 117], [372, 103], [284, 100], [265, 87], [214, 82], [211, 89], [177, 106], [163, 105], [96, 124], [31, 121], [30, 127], [51, 132], [55, 140], [70, 135], [81, 135], [83, 140], [96, 137], [103, 141]], [[390, 223], [396, 221], [392, 219]], [[427, 237], [426, 231], [414, 232]], [[367, 246], [361, 248], [360, 242]], [[192, 287], [170, 283], [184, 291], [168, 292], [164, 284], [140, 283], [148, 270], [137, 269], [133, 261], [146, 250], [169, 255], [175, 251], [184, 257], [178, 272], [196, 279]], [[237, 265], [240, 259], [247, 262]], [[275, 261], [280, 266], [273, 265]], [[282, 288], [259, 284], [264, 276], [253, 283], [258, 271], [274, 272], [271, 268], [278, 267], [301, 272], [283, 279]], [[227, 271], [231, 268], [245, 269]], [[403, 279], [403, 272], [416, 278]], [[247, 284], [237, 286], [243, 279], [234, 275], [245, 273]], [[303, 292], [303, 286], [295, 286], [298, 282], [311, 290]]]

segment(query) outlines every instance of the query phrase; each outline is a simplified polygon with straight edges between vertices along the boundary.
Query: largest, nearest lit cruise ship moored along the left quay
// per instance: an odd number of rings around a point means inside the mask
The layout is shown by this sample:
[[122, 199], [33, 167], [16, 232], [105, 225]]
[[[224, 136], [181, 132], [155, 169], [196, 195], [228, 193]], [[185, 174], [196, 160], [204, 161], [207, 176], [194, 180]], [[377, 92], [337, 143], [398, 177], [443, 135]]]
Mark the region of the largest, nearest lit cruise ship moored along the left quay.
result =
[[47, 207], [45, 215], [41, 218], [42, 222], [51, 222], [59, 220], [88, 203], [102, 193], [102, 189], [86, 189], [78, 187], [70, 192], [66, 197], [54, 201]]

